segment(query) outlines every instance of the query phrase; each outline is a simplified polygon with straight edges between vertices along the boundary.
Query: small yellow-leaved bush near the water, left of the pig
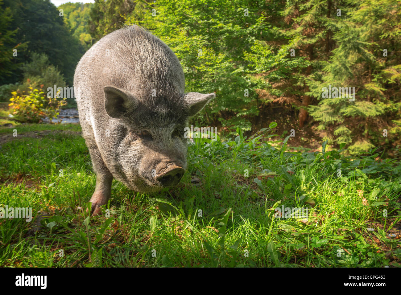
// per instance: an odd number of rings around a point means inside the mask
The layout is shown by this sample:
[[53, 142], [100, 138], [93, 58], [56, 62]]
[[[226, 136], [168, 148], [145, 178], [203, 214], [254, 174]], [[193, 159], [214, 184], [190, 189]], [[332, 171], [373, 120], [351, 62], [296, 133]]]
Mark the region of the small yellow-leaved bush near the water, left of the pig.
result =
[[29, 87], [26, 94], [20, 95], [16, 91], [12, 92], [10, 98], [11, 103], [8, 105], [12, 108], [12, 115], [20, 122], [40, 123], [48, 117], [56, 118], [59, 109], [65, 105], [65, 99], [47, 97], [45, 92], [40, 89]]

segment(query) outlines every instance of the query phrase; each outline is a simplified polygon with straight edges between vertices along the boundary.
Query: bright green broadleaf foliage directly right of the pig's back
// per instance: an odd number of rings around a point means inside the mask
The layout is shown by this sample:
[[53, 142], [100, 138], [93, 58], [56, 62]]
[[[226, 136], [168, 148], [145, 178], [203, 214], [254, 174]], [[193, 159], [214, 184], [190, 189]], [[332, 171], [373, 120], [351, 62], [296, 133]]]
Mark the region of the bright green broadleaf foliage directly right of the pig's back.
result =
[[[265, 83], [249, 75], [243, 52], [261, 32], [266, 36], [263, 16], [255, 11], [267, 10], [269, 4], [250, 3], [161, 0], [136, 8], [127, 18], [127, 24], [142, 24], [172, 48], [184, 69], [188, 92], [216, 92], [216, 99], [194, 118], [200, 124], [247, 131], [259, 113], [255, 90]], [[255, 7], [247, 17], [246, 7]]]

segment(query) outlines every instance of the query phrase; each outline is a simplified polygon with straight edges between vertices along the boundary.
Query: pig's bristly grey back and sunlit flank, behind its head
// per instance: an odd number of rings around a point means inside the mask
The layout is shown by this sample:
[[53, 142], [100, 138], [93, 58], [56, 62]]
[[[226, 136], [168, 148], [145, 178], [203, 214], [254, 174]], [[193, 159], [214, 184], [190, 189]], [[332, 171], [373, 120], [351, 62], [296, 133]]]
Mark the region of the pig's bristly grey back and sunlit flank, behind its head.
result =
[[[109, 126], [103, 87], [112, 85], [132, 92], [168, 91], [184, 93], [185, 80], [180, 62], [156, 36], [138, 26], [116, 30], [94, 44], [79, 61], [74, 89], [79, 117], [85, 133]], [[85, 122], [83, 122], [85, 121]], [[96, 137], [96, 134], [95, 134]]]

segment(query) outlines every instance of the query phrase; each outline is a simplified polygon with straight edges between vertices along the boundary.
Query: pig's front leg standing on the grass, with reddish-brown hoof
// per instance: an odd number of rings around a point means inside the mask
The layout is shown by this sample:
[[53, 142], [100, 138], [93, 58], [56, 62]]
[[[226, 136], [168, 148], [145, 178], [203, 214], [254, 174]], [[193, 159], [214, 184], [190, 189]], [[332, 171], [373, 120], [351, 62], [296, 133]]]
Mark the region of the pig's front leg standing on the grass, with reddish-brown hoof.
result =
[[91, 154], [93, 169], [96, 172], [95, 192], [93, 193], [89, 202], [92, 203], [92, 215], [98, 215], [101, 212], [100, 206], [107, 204], [107, 201], [110, 198], [113, 176], [105, 166], [95, 141], [86, 139], [86, 144], [89, 147], [89, 154]]

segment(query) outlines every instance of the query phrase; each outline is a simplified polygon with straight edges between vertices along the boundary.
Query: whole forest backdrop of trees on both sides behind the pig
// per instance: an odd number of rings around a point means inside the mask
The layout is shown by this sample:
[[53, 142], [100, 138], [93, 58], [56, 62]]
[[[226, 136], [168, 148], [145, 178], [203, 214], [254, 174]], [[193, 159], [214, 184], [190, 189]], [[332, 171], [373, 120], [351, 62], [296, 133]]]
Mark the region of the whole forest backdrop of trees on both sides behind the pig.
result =
[[[250, 135], [280, 121], [277, 132], [300, 132], [294, 144], [312, 150], [313, 142], [327, 140], [345, 143], [351, 155], [376, 146], [399, 154], [397, 0], [96, 0], [59, 7], [2, 0], [0, 6], [1, 101], [28, 87], [72, 86], [75, 66], [92, 44], [138, 24], [172, 48], [187, 91], [215, 91], [217, 98], [194, 118], [198, 125]], [[334, 91], [325, 96], [329, 86], [351, 87], [354, 100]]]

